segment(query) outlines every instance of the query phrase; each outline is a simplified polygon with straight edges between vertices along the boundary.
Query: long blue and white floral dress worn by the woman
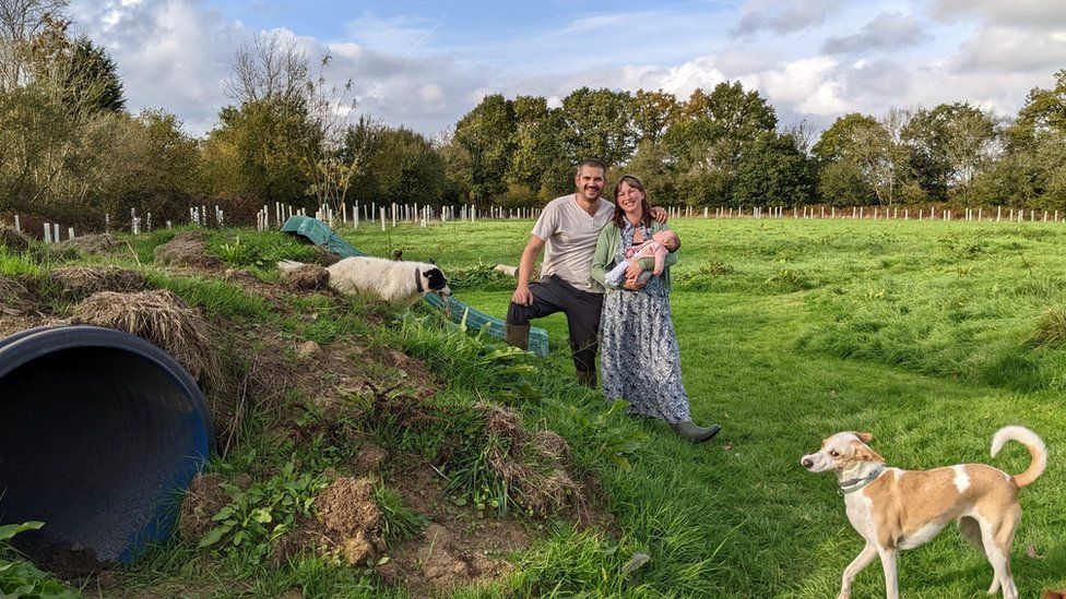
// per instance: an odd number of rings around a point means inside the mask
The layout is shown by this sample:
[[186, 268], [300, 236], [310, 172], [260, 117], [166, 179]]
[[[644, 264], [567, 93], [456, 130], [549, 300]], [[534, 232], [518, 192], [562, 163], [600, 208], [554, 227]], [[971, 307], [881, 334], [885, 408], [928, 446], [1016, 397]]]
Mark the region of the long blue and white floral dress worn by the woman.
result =
[[[607, 225], [611, 227], [612, 225]], [[615, 264], [625, 260], [638, 227], [626, 223]], [[600, 318], [603, 392], [607, 399], [629, 402], [629, 414], [670, 423], [691, 420], [682, 382], [682, 360], [671, 318], [670, 295], [662, 277], [652, 276], [640, 291], [608, 292]]]

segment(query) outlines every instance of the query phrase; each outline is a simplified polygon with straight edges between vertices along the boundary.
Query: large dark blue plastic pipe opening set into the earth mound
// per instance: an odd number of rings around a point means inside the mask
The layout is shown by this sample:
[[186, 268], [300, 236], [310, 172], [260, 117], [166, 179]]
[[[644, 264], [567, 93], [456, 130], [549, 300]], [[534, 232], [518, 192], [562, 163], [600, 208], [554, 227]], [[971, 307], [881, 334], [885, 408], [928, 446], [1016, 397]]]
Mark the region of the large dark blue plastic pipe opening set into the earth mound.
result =
[[165, 540], [214, 450], [197, 382], [151, 343], [95, 326], [0, 339], [0, 524], [48, 552], [130, 563]]

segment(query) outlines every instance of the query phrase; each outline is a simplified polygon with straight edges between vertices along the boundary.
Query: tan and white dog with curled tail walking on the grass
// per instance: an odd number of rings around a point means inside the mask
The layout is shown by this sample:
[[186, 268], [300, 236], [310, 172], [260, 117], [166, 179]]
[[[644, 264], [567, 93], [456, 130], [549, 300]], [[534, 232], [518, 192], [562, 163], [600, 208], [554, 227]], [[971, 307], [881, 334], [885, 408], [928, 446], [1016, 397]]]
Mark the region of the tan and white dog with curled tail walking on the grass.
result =
[[1007, 441], [1029, 450], [1032, 462], [1017, 476], [982, 464], [960, 464], [932, 470], [901, 470], [885, 466], [885, 458], [867, 443], [869, 433], [841, 432], [821, 442], [817, 453], [801, 460], [812, 472], [837, 475], [848, 519], [866, 539], [862, 553], [844, 568], [838, 599], [851, 596], [855, 575], [880, 558], [888, 599], [899, 597], [896, 553], [914, 549], [955, 520], [959, 530], [984, 552], [994, 576], [988, 594], [1003, 589], [1017, 599], [1010, 575], [1010, 544], [1021, 519], [1018, 490], [1032, 483], [1047, 465], [1047, 448], [1023, 427], [1005, 427], [992, 438], [995, 457]]

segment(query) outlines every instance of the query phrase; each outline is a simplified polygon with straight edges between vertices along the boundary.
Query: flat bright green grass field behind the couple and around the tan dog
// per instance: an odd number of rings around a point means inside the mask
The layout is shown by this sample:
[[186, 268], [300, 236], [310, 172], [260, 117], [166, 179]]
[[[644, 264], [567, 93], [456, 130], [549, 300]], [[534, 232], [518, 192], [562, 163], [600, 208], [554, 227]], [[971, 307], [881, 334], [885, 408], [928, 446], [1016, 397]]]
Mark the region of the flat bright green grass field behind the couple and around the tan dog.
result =
[[[632, 472], [606, 488], [624, 530], [652, 562], [642, 580], [667, 595], [829, 597], [862, 549], [828, 475], [798, 457], [839, 430], [874, 433], [889, 464], [990, 463], [993, 432], [1038, 431], [1052, 448], [1026, 511], [1014, 568], [1026, 597], [1066, 586], [1066, 228], [1041, 224], [679, 220], [674, 320], [699, 422], [721, 422], [691, 447], [653, 423]], [[448, 224], [347, 235], [356, 247], [446, 273], [516, 264], [530, 223]], [[509, 291], [458, 288], [502, 315]], [[566, 327], [544, 321], [561, 372]], [[549, 422], [549, 426], [553, 426]], [[1028, 454], [1009, 447], [1011, 472]], [[1040, 559], [1026, 555], [1033, 546]], [[946, 530], [900, 561], [905, 597], [981, 597], [986, 562]], [[880, 568], [855, 596], [883, 592]]]

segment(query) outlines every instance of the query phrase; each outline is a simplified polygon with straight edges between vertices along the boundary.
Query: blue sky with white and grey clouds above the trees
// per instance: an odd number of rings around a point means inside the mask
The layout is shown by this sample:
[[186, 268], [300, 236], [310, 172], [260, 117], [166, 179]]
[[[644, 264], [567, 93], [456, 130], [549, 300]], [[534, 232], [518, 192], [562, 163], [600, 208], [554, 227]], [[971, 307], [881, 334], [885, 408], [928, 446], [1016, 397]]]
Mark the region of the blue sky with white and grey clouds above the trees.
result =
[[783, 124], [821, 129], [850, 111], [970, 100], [1012, 115], [1066, 68], [1061, 0], [546, 2], [72, 0], [105, 46], [129, 105], [176, 112], [193, 133], [229, 101], [241, 40], [291, 36], [358, 110], [428, 135], [481, 97], [558, 101], [588, 85], [685, 98], [739, 80]]

